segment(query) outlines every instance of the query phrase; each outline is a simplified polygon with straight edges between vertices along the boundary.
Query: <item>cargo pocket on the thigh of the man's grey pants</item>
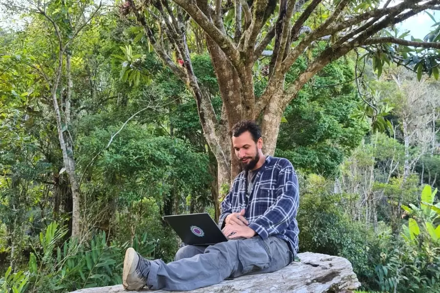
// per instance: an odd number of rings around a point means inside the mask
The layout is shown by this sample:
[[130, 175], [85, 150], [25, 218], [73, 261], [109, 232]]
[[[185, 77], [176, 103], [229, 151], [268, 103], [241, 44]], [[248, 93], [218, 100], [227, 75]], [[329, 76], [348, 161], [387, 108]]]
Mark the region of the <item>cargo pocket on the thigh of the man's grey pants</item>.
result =
[[269, 251], [259, 236], [239, 241], [238, 258], [242, 274], [264, 270], [270, 264]]

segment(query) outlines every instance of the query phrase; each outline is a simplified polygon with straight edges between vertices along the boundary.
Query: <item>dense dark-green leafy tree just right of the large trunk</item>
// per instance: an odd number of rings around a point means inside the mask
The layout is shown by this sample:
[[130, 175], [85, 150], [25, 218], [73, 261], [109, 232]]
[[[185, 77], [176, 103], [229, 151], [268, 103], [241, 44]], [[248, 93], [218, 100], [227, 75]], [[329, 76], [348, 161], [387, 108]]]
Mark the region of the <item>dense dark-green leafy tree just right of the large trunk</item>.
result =
[[289, 159], [303, 175], [338, 174], [370, 128], [365, 119], [353, 117], [360, 103], [353, 69], [351, 58], [330, 63], [284, 111], [275, 155]]

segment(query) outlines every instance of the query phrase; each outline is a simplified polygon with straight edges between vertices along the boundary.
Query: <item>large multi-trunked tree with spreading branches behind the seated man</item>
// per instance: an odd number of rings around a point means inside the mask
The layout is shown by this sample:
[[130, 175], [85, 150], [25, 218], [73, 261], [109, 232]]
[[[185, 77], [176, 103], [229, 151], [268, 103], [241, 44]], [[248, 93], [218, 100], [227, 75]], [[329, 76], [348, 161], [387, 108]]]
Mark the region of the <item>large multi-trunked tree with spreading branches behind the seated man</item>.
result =
[[[402, 63], [398, 54], [402, 50], [409, 55], [408, 62], [415, 62], [413, 57], [419, 58], [419, 53], [411, 53], [414, 49], [408, 46], [440, 48], [438, 30], [430, 42], [406, 41], [384, 32], [421, 11], [439, 9], [439, 0], [408, 0], [389, 7], [390, 2], [379, 7], [378, 0], [127, 0], [120, 12], [134, 15], [162, 62], [192, 91], [203, 133], [218, 162], [219, 189], [225, 190], [221, 187], [229, 186], [240, 168], [229, 133], [236, 122], [260, 120], [264, 151], [273, 154], [286, 105], [333, 60], [355, 48], [368, 47], [380, 64]], [[188, 45], [193, 37], [190, 21], [204, 32], [223, 102], [221, 113], [214, 111], [194, 73]], [[313, 58], [308, 52], [318, 45], [323, 49]], [[424, 53], [432, 57], [432, 51]], [[270, 56], [270, 60], [262, 61], [262, 56]], [[287, 72], [300, 56], [307, 56], [308, 63], [287, 81]], [[433, 57], [435, 63], [424, 63], [419, 70], [437, 70], [436, 60]], [[260, 95], [255, 94], [257, 76], [267, 80]]]

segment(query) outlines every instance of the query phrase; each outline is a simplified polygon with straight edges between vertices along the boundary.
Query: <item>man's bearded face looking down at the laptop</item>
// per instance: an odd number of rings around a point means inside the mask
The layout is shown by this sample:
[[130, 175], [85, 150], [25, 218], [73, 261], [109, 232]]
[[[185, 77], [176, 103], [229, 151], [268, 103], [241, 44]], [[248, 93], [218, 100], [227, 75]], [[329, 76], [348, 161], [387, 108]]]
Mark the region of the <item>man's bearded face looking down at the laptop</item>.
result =
[[256, 143], [252, 139], [252, 134], [245, 131], [238, 137], [232, 136], [232, 146], [234, 146], [235, 155], [239, 158], [243, 169], [252, 170], [257, 165], [260, 160], [261, 138]]

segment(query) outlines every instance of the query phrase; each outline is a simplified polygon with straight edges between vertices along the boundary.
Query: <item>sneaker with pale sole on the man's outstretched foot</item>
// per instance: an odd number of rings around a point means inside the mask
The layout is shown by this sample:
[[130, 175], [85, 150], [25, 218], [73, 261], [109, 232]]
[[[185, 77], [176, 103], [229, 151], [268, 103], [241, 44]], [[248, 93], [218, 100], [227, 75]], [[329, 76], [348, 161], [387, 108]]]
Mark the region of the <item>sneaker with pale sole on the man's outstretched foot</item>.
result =
[[126, 290], [140, 290], [147, 284], [150, 261], [139, 255], [133, 248], [125, 251], [122, 286]]

